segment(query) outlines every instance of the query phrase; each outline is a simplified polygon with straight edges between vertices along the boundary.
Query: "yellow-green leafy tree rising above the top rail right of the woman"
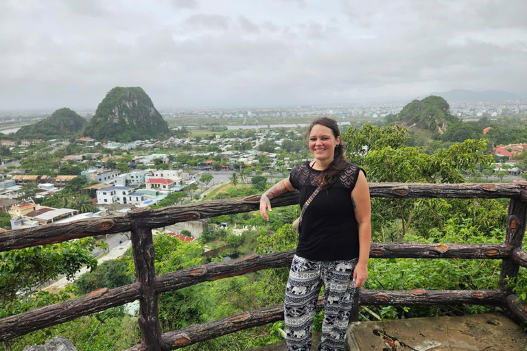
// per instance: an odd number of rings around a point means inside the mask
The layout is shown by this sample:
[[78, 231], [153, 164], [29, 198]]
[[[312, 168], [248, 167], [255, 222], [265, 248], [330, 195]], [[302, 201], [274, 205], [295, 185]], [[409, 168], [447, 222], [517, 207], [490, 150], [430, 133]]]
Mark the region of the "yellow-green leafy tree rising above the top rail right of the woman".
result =
[[[343, 140], [347, 143], [348, 158], [364, 168], [370, 181], [465, 182], [464, 171], [485, 167], [491, 162], [491, 156], [484, 154], [485, 141], [468, 139], [448, 149], [438, 149], [434, 154], [425, 154], [421, 147], [406, 146], [406, 130], [397, 126], [380, 128], [365, 124], [361, 130], [350, 127]], [[392, 239], [400, 241], [410, 229], [416, 210], [425, 204], [444, 206], [441, 201], [429, 203], [425, 199], [373, 199], [374, 232], [388, 231], [388, 236], [395, 232]], [[434, 210], [440, 208], [428, 211]], [[443, 225], [437, 219], [430, 220], [428, 228]]]

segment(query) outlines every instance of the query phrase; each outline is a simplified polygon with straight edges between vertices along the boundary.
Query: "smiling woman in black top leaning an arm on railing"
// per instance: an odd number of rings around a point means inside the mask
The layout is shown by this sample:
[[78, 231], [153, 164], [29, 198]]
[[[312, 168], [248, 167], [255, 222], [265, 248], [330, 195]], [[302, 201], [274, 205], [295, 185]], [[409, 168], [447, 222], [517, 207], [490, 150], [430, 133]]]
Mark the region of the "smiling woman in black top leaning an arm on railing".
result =
[[316, 300], [324, 285], [318, 350], [342, 350], [353, 294], [368, 276], [370, 192], [364, 171], [344, 158], [336, 121], [316, 119], [306, 135], [315, 160], [301, 163], [266, 191], [260, 199], [260, 214], [269, 220], [270, 199], [283, 193], [299, 190], [303, 205], [319, 189], [305, 208], [285, 289], [286, 342], [290, 351], [311, 350]]

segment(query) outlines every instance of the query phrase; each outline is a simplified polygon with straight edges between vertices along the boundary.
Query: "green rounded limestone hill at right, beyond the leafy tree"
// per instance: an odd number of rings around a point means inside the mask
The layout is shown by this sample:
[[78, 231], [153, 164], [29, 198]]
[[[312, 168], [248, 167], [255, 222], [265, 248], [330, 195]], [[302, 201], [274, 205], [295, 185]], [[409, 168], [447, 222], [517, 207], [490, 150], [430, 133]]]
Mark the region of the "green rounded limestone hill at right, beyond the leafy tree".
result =
[[442, 134], [448, 125], [459, 123], [459, 119], [450, 114], [450, 106], [443, 97], [429, 96], [404, 106], [395, 122], [410, 129], [430, 130]]

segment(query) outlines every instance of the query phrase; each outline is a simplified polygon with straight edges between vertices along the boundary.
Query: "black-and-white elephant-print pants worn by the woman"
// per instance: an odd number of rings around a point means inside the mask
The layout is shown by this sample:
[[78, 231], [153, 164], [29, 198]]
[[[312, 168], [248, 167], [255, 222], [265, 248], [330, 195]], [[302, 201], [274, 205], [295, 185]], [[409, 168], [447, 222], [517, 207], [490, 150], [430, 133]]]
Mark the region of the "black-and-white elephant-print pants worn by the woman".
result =
[[318, 351], [344, 349], [358, 258], [348, 261], [310, 261], [294, 256], [285, 288], [285, 332], [289, 351], [311, 350], [316, 300], [324, 285], [324, 321]]

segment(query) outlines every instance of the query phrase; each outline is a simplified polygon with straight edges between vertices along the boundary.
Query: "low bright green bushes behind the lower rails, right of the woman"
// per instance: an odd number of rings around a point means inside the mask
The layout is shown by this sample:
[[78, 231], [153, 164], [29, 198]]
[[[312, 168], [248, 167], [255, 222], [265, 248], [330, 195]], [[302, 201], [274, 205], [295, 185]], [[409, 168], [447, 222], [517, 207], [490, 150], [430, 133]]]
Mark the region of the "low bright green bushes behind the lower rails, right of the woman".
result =
[[[502, 243], [504, 227], [483, 233], [471, 219], [452, 218], [443, 230], [432, 228], [428, 239], [407, 234], [404, 241], [417, 243]], [[500, 276], [499, 260], [428, 260], [387, 258], [370, 260], [366, 289], [411, 290], [411, 289], [497, 289]], [[452, 315], [480, 313], [489, 307], [463, 306], [370, 306], [384, 318], [424, 317], [430, 315]]]

